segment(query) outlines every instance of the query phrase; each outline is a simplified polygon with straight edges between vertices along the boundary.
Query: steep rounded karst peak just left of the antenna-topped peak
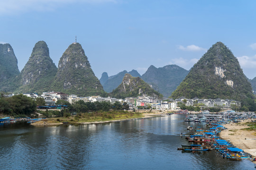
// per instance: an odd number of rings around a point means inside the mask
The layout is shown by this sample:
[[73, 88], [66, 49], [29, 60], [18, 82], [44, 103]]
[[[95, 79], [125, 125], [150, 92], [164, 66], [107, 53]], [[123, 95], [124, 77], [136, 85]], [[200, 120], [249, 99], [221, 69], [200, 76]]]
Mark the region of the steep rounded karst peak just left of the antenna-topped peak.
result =
[[50, 58], [46, 42], [35, 44], [30, 58], [18, 76], [19, 93], [49, 91], [57, 68]]

